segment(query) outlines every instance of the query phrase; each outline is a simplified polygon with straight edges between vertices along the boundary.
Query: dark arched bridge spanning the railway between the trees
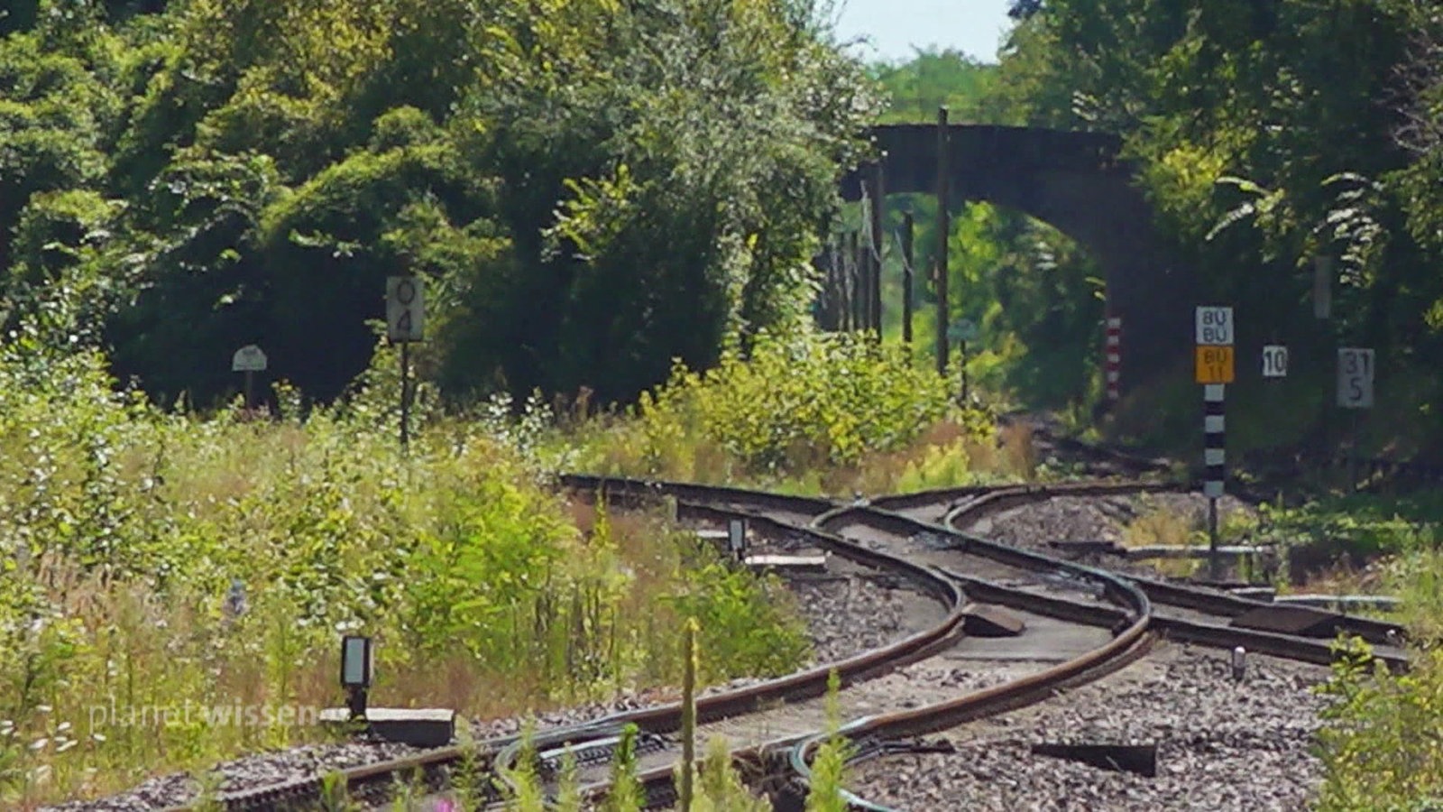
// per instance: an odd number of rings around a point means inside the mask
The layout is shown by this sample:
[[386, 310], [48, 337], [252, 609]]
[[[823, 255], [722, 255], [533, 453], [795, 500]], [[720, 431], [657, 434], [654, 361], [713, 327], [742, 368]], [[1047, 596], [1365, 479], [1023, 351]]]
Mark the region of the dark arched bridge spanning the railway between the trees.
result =
[[[935, 194], [944, 157], [949, 210], [967, 201], [1009, 207], [1091, 251], [1107, 276], [1108, 315], [1123, 319], [1124, 394], [1190, 357], [1196, 273], [1154, 231], [1153, 210], [1131, 183], [1134, 168], [1118, 159], [1117, 136], [951, 124], [939, 150], [938, 127], [873, 129], [885, 195]], [[860, 199], [876, 169], [844, 178], [843, 198]]]

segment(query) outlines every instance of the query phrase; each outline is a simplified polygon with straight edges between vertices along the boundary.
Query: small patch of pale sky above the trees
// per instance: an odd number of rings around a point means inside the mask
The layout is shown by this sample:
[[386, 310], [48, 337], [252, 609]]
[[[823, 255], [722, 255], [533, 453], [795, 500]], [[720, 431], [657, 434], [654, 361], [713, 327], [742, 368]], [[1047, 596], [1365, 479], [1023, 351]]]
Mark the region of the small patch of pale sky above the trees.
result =
[[1009, 0], [835, 0], [837, 35], [843, 42], [867, 36], [861, 55], [911, 59], [912, 46], [958, 48], [986, 62], [997, 61], [1007, 27]]

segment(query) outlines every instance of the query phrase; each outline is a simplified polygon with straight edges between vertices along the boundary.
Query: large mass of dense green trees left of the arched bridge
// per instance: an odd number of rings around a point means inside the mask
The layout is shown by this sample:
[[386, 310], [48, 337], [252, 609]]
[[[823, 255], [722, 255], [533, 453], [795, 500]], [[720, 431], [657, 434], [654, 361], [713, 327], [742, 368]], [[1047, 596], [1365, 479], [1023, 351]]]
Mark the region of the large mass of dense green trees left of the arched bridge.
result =
[[794, 329], [872, 114], [808, 0], [36, 0], [4, 26], [4, 311], [65, 288], [121, 377], [201, 402], [251, 341], [336, 394], [397, 273], [433, 282], [424, 368], [457, 397], [629, 399]]

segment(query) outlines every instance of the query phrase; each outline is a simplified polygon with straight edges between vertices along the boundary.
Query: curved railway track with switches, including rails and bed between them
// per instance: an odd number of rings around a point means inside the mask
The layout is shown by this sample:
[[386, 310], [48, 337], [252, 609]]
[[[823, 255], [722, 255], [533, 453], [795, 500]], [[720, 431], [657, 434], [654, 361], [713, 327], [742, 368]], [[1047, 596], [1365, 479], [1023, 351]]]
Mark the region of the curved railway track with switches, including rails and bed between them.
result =
[[[1141, 467], [1141, 465], [1140, 465]], [[775, 793], [805, 780], [808, 757], [820, 741], [825, 714], [820, 696], [835, 670], [844, 685], [844, 735], [861, 750], [886, 741], [934, 733], [970, 720], [1038, 702], [1071, 685], [1115, 672], [1144, 656], [1159, 636], [1203, 646], [1245, 646], [1260, 653], [1309, 662], [1330, 662], [1330, 640], [1238, 629], [1228, 621], [1268, 607], [1212, 589], [1134, 575], [1120, 575], [1063, 561], [1038, 550], [988, 542], [957, 529], [988, 511], [1056, 496], [1120, 496], [1179, 490], [1156, 483], [1079, 483], [1001, 488], [951, 488], [872, 503], [840, 506], [828, 500], [788, 497], [740, 488], [655, 483], [586, 475], [561, 477], [558, 485], [577, 494], [603, 496], [613, 504], [655, 504], [670, 498], [677, 516], [701, 524], [746, 516], [763, 537], [805, 539], [834, 556], [892, 572], [935, 601], [935, 618], [919, 631], [880, 649], [825, 663], [786, 678], [703, 696], [697, 702], [698, 738], [723, 735], [733, 759], [747, 769], [753, 786]], [[962, 633], [978, 604], [1009, 607], [1027, 624], [1020, 637], [974, 637]], [[1401, 652], [1387, 643], [1401, 630], [1392, 624], [1346, 618], [1341, 630], [1381, 643], [1377, 656], [1390, 668], [1405, 668]], [[887, 683], [908, 669], [945, 673], [949, 663], [991, 663], [1001, 683], [934, 686], [899, 696]], [[955, 669], [954, 669], [955, 670]], [[915, 681], [913, 681], [915, 682]], [[869, 689], [870, 686], [870, 689]], [[537, 751], [556, 759], [577, 756], [583, 793], [593, 800], [608, 790], [610, 748], [622, 725], [641, 733], [641, 779], [655, 805], [670, 802], [672, 766], [678, 760], [680, 704], [615, 714], [603, 720], [543, 731]], [[519, 757], [517, 737], [478, 743], [469, 756], [444, 747], [407, 759], [371, 764], [342, 774], [352, 800], [384, 802], [398, 780], [429, 789], [446, 786], [469, 761], [482, 776], [501, 776]], [[763, 780], [771, 777], [771, 780]], [[302, 780], [231, 793], [225, 809], [303, 809], [322, 798], [322, 780]], [[496, 799], [492, 796], [492, 799]], [[859, 806], [866, 806], [857, 800]]]

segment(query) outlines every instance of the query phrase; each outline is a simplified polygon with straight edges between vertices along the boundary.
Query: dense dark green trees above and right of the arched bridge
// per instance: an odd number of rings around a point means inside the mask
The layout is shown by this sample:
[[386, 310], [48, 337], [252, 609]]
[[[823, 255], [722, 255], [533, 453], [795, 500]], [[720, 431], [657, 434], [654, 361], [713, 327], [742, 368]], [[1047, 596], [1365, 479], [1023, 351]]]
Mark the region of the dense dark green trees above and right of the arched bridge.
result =
[[[1242, 340], [1294, 348], [1289, 426], [1323, 431], [1336, 345], [1378, 350], [1375, 446], [1416, 451], [1443, 393], [1439, 29], [1397, 0], [1048, 0], [1020, 9], [997, 91], [1012, 120], [1126, 137], [1205, 295]], [[1333, 314], [1312, 314], [1315, 259]], [[1081, 289], [1074, 289], [1081, 296]], [[1251, 366], [1251, 364], [1250, 364]], [[1247, 370], [1240, 393], [1261, 397]], [[1154, 407], [1156, 405], [1150, 405]]]

